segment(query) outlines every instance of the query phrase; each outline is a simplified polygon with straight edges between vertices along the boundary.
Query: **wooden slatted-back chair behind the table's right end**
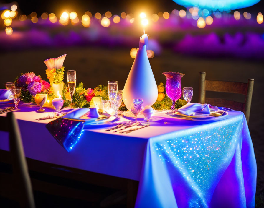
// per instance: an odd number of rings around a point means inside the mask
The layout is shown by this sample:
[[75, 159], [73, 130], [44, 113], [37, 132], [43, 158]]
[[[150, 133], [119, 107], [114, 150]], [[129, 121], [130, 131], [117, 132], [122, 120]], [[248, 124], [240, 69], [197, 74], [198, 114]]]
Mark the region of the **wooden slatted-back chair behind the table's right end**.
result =
[[[199, 103], [209, 103], [221, 107], [232, 108], [233, 110], [242, 111], [249, 122], [251, 100], [253, 94], [254, 79], [248, 79], [248, 83], [216, 81], [205, 79], [206, 73], [200, 72], [199, 81]], [[221, 98], [206, 98], [205, 91], [229, 92], [245, 95], [245, 103]]]

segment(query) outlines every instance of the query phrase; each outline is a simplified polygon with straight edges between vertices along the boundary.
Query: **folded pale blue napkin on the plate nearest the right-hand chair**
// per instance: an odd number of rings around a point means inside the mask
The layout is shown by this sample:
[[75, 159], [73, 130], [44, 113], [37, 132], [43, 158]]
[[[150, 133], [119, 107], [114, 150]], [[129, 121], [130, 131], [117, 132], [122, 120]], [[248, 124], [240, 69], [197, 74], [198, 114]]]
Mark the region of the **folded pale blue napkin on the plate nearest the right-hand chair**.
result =
[[210, 109], [208, 104], [200, 103], [187, 103], [177, 110], [177, 112], [186, 116], [205, 116], [210, 114]]

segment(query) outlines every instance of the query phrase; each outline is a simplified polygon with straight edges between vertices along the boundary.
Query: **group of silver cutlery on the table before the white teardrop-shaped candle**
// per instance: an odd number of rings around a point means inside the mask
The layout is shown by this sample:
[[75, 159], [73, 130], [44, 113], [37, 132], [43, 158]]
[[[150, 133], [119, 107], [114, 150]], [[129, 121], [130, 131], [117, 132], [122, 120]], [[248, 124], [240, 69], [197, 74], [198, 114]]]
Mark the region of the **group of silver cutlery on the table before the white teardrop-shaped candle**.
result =
[[131, 133], [131, 132], [136, 131], [138, 129], [143, 129], [143, 128], [148, 127], [148, 126], [150, 126], [150, 124], [148, 124], [148, 123], [144, 124], [144, 123], [139, 123], [139, 122], [135, 122], [135, 121], [129, 121], [129, 122], [125, 122], [125, 123], [119, 123], [110, 129], [106, 129], [105, 131], [115, 130], [113, 132], [119, 132], [120, 134], [123, 134], [123, 133], [128, 134], [128, 133]]

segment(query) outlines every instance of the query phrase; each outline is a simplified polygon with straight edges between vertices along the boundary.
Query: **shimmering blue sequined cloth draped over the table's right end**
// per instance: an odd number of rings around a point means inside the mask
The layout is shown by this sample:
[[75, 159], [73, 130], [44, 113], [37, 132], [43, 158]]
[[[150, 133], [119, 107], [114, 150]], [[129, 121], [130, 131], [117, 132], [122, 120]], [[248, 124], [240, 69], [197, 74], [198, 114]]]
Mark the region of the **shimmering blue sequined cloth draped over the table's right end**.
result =
[[256, 172], [248, 125], [237, 111], [151, 137], [135, 207], [255, 207]]

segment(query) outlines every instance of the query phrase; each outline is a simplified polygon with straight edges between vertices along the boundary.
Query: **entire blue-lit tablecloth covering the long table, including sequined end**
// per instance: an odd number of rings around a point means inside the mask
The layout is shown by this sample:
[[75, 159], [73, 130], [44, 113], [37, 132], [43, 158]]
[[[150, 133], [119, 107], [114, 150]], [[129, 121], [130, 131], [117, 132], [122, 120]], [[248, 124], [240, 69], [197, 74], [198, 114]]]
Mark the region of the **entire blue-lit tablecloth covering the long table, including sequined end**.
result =
[[[129, 134], [84, 129], [68, 152], [45, 127], [55, 119], [35, 120], [49, 112], [36, 113], [39, 106], [30, 103], [19, 103], [19, 109], [14, 115], [26, 157], [137, 180], [135, 207], [255, 207], [256, 160], [240, 111], [219, 121], [168, 122], [159, 112], [152, 119], [162, 120]], [[0, 135], [0, 149], [8, 151], [8, 133]]]

